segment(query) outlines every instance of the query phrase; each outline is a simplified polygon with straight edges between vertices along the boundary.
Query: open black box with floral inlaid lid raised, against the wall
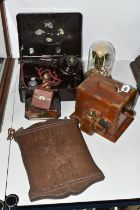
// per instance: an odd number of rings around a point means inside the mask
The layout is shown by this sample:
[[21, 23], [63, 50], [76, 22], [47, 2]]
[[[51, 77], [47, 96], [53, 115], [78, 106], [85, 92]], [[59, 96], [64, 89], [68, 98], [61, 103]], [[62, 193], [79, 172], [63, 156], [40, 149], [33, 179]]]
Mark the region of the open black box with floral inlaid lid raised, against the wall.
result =
[[[30, 80], [35, 80], [39, 86], [44, 82], [38, 75], [37, 68], [43, 72], [49, 70], [51, 74], [56, 75], [57, 81], [55, 84], [51, 81], [49, 88], [58, 92], [61, 101], [75, 100], [76, 87], [84, 80], [81, 61], [82, 15], [18, 14], [17, 26], [21, 63], [20, 100], [25, 102], [26, 95], [32, 97], [34, 88], [28, 86]], [[73, 58], [76, 65], [70, 64], [69, 58]], [[66, 65], [63, 60], [67, 61]], [[67, 76], [62, 73], [65, 70], [68, 70]]]

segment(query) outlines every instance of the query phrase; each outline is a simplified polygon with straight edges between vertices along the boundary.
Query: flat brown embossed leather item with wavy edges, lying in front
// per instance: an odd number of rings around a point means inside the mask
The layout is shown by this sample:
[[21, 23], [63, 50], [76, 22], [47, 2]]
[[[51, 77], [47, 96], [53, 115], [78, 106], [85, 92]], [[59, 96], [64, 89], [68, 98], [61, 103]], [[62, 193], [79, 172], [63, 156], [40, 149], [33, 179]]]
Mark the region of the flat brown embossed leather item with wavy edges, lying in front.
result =
[[75, 119], [50, 119], [14, 134], [27, 171], [31, 201], [79, 194], [104, 179]]

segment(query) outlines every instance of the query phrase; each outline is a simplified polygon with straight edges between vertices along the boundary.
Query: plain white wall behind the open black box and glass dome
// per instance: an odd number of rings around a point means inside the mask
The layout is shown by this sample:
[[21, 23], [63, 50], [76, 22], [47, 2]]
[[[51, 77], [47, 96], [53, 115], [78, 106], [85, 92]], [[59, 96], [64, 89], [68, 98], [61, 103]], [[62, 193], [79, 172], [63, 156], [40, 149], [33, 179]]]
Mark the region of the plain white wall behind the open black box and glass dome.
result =
[[81, 12], [83, 58], [96, 40], [108, 40], [117, 60], [132, 60], [140, 53], [140, 0], [6, 0], [13, 57], [19, 57], [16, 14], [19, 12]]

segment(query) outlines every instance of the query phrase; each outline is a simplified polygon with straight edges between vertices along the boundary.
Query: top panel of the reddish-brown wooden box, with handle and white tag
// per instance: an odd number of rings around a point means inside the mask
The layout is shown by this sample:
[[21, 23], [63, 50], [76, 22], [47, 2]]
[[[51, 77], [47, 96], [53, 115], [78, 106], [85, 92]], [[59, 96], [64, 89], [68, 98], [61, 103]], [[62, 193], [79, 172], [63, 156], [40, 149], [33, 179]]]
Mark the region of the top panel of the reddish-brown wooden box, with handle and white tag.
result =
[[137, 93], [135, 88], [128, 88], [128, 86], [100, 74], [91, 74], [78, 88], [100, 100], [100, 103], [105, 103], [111, 109], [114, 107], [121, 110], [129, 102], [134, 101]]

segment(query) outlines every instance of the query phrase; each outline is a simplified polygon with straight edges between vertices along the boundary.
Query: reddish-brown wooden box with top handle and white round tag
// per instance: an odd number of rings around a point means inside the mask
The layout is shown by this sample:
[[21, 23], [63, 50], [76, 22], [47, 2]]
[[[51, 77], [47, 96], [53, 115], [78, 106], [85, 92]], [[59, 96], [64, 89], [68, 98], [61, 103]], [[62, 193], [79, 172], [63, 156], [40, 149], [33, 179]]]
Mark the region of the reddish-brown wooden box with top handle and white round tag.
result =
[[75, 112], [80, 128], [116, 142], [134, 119], [137, 91], [129, 85], [93, 74], [77, 87]]

